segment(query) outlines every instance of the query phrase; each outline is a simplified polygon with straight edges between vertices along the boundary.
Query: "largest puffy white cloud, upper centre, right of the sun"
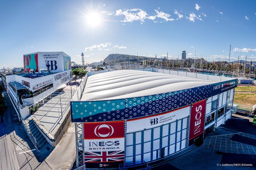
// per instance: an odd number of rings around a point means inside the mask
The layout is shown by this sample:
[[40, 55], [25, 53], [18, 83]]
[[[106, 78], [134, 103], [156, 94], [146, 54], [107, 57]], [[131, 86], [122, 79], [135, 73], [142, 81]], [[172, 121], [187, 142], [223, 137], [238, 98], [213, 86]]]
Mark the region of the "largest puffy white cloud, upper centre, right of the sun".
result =
[[133, 21], [140, 21], [140, 24], [143, 24], [145, 22], [145, 19], [147, 18], [147, 12], [143, 11], [141, 9], [130, 9], [130, 10], [117, 10], [116, 16], [124, 16], [124, 20], [121, 22], [133, 22]]

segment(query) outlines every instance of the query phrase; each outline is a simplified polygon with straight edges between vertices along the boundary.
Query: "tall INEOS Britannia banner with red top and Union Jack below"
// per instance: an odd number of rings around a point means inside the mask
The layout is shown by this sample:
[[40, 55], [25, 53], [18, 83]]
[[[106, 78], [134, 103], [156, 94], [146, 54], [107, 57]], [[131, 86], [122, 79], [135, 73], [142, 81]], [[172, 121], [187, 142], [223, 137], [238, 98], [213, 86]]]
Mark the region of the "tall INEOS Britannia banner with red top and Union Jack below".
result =
[[124, 121], [84, 123], [87, 168], [116, 168], [124, 164]]

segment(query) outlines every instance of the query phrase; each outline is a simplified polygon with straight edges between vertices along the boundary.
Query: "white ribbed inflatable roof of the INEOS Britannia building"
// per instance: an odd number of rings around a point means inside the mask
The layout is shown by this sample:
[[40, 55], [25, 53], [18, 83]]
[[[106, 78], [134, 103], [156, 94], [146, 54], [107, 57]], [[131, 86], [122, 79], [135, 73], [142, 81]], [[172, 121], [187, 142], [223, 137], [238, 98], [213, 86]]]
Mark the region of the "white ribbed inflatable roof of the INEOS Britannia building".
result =
[[117, 70], [88, 77], [81, 101], [124, 99], [217, 83], [141, 70]]

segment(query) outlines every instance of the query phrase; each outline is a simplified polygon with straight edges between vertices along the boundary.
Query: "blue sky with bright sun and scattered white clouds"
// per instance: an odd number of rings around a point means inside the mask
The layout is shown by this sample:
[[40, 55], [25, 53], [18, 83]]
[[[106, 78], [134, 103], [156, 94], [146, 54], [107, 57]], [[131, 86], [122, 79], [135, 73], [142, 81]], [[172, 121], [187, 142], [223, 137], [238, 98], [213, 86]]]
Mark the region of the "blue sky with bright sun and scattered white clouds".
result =
[[[64, 51], [81, 63], [108, 54], [256, 61], [256, 1], [0, 1], [0, 67]], [[94, 23], [96, 22], [96, 23]]]

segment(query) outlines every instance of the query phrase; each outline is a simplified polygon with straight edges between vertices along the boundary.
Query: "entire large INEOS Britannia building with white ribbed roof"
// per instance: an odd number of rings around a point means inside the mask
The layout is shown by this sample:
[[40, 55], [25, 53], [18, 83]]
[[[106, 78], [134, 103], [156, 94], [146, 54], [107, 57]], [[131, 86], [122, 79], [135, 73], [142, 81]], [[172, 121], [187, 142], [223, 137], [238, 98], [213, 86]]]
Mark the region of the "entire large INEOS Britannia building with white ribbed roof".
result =
[[202, 144], [231, 117], [236, 86], [234, 78], [172, 70], [88, 75], [81, 100], [70, 102], [72, 122], [83, 123], [81, 164], [128, 166]]

